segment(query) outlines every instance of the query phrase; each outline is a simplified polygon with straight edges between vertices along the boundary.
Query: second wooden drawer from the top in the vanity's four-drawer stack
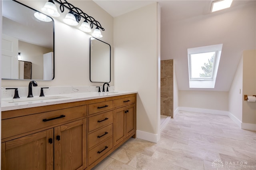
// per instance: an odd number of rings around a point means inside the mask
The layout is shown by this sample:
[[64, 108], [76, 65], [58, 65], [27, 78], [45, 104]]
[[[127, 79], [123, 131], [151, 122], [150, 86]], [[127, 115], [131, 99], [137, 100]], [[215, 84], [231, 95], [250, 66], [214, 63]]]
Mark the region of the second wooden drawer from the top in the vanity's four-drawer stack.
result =
[[89, 132], [110, 123], [113, 123], [113, 111], [89, 117]]

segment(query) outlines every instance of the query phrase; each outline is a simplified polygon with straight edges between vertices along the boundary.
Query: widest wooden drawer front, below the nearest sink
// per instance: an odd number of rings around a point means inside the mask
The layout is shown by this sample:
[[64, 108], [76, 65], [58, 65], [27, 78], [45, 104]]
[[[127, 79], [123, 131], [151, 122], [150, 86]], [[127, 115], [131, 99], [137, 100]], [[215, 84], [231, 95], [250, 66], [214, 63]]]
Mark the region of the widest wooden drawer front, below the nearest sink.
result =
[[86, 116], [86, 105], [2, 120], [2, 139]]

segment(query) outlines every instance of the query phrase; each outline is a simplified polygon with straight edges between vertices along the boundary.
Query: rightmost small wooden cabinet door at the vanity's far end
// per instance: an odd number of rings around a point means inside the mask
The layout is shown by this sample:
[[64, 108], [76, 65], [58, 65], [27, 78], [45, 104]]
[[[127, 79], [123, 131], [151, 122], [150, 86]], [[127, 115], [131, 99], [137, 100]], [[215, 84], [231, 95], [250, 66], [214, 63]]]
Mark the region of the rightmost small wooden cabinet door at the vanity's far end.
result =
[[135, 131], [135, 104], [126, 107], [126, 136]]

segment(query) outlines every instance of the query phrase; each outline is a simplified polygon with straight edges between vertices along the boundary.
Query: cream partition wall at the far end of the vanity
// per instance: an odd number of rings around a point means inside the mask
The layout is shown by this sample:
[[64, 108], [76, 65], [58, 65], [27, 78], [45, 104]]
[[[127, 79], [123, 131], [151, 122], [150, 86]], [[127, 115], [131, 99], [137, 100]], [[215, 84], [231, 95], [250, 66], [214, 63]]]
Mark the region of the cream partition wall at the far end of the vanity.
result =
[[114, 18], [115, 88], [138, 91], [137, 137], [153, 142], [160, 135], [158, 11], [153, 3]]

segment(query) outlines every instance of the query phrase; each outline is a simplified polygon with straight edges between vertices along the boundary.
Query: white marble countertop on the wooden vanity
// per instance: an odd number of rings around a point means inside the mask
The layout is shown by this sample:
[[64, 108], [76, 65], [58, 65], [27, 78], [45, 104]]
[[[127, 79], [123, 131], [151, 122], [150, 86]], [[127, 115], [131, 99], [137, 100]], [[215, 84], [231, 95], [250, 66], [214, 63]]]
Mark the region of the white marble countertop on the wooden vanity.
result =
[[75, 101], [84, 101], [90, 99], [100, 99], [104, 97], [113, 97], [119, 95], [134, 94], [137, 91], [110, 91], [110, 92], [89, 92], [89, 93], [72, 93], [62, 95], [47, 95], [45, 97], [22, 97], [20, 99], [2, 99], [1, 111], [16, 109], [25, 109], [30, 107], [39, 107], [46, 105], [55, 105], [60, 103], [69, 103]]

